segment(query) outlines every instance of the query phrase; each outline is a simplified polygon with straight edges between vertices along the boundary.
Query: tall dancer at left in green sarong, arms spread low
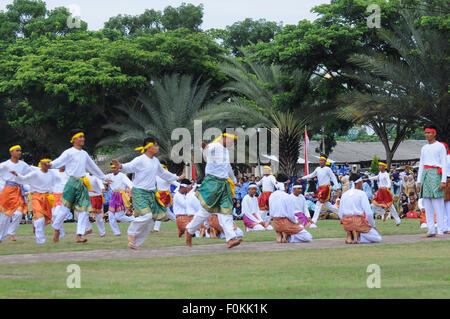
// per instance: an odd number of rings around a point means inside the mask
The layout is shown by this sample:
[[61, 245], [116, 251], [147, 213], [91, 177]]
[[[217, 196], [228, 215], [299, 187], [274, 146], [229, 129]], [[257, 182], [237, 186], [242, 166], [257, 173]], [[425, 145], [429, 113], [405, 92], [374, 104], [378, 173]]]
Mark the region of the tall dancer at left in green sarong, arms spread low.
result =
[[65, 150], [57, 159], [50, 163], [43, 163], [43, 165], [47, 165], [49, 168], [65, 166], [66, 173], [70, 176], [66, 186], [64, 186], [64, 192], [61, 198], [63, 205], [58, 206], [58, 209], [55, 211], [55, 217], [52, 223], [52, 227], [55, 230], [53, 241], [59, 241], [62, 224], [67, 215], [69, 215], [70, 210], [74, 209], [78, 214], [75, 242], [85, 243], [87, 239], [83, 238], [83, 236], [86, 232], [86, 220], [88, 219], [89, 212], [93, 210], [89, 199], [90, 185], [86, 177], [86, 171], [92, 173], [102, 181], [105, 180], [105, 175], [90, 158], [89, 154], [83, 150], [85, 142], [84, 131], [74, 129], [71, 131], [71, 136], [70, 143], [73, 144], [73, 147]]

